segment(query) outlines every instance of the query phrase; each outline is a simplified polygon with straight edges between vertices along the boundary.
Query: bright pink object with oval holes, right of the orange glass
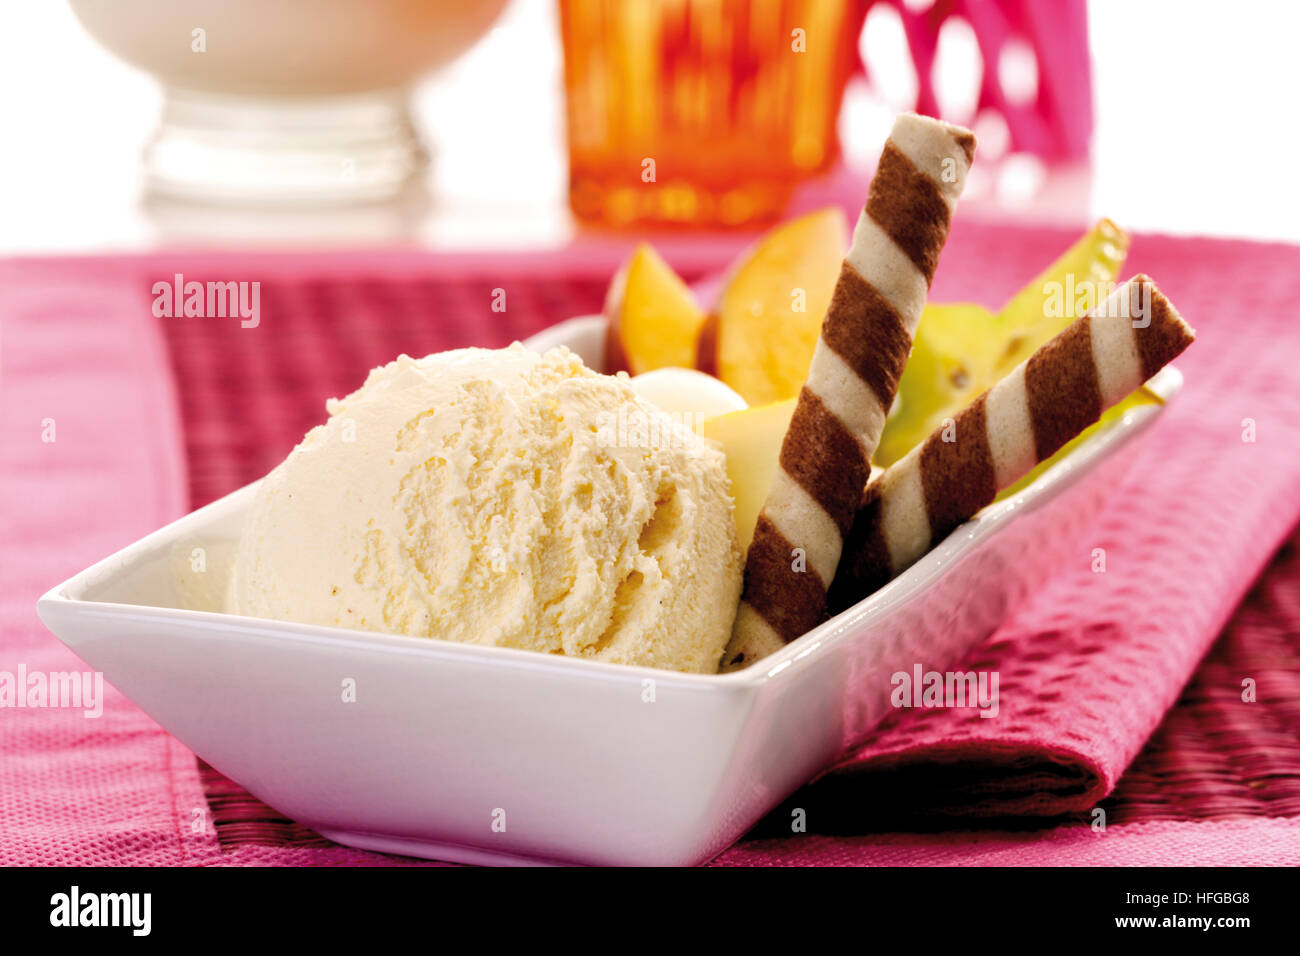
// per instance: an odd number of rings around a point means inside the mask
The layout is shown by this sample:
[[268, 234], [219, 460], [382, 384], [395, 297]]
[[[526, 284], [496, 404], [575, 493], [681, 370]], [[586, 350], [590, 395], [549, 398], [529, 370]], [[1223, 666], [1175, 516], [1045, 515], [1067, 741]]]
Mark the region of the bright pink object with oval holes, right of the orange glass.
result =
[[[962, 17], [975, 31], [984, 61], [976, 116], [985, 109], [1000, 113], [1010, 131], [1013, 151], [1049, 160], [1087, 157], [1092, 137], [1092, 68], [1084, 0], [935, 0], [924, 10], [909, 9], [905, 0], [864, 0], [863, 13], [878, 3], [893, 7], [902, 20], [916, 68], [918, 112], [940, 114], [933, 81], [939, 31], [950, 17]], [[1026, 103], [1017, 103], [998, 78], [1001, 56], [1017, 40], [1032, 51], [1037, 62], [1037, 90]], [[870, 65], [866, 68], [870, 78]], [[970, 117], [942, 118], [970, 121]]]

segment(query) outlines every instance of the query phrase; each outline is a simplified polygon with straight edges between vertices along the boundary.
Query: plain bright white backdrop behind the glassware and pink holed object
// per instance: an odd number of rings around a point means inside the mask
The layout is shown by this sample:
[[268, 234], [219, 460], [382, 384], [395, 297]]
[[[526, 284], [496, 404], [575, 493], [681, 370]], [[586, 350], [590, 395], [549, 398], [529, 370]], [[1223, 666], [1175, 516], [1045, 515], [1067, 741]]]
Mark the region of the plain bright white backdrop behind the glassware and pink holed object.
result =
[[[1105, 215], [1132, 230], [1300, 241], [1300, 4], [1101, 0], [1089, 21], [1091, 168], [987, 165], [972, 215], [1070, 224]], [[863, 46], [888, 51], [889, 30], [868, 25]], [[957, 100], [968, 59], [941, 53], [941, 88]], [[905, 92], [906, 77], [892, 90]], [[142, 207], [138, 160], [160, 92], [100, 49], [60, 0], [0, 4], [0, 254], [307, 241], [265, 217]], [[514, 0], [473, 51], [420, 85], [416, 105], [436, 152], [430, 207], [406, 226], [395, 225], [400, 211], [332, 213], [311, 226], [311, 242], [546, 247], [575, 235], [551, 0]], [[868, 168], [879, 155], [896, 107], [850, 91], [841, 129], [852, 164]]]

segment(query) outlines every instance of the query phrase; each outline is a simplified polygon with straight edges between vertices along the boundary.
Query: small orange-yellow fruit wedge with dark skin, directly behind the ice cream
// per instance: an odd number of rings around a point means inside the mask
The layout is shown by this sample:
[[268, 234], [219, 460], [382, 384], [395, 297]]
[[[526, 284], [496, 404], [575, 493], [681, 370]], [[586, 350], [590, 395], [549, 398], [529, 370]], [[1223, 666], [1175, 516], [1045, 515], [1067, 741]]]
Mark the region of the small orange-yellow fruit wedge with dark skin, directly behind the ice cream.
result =
[[646, 243], [623, 264], [604, 300], [604, 371], [641, 375], [690, 368], [705, 312], [672, 267]]

